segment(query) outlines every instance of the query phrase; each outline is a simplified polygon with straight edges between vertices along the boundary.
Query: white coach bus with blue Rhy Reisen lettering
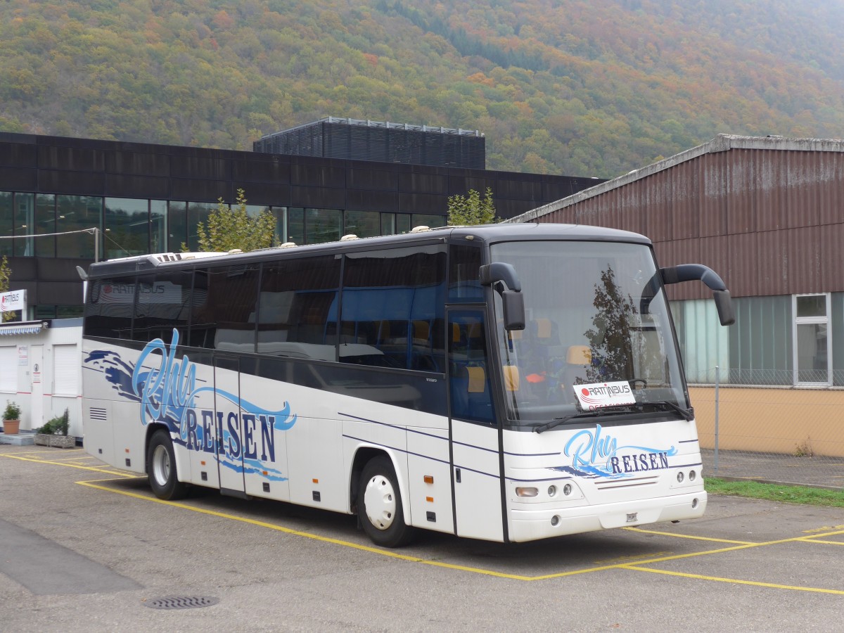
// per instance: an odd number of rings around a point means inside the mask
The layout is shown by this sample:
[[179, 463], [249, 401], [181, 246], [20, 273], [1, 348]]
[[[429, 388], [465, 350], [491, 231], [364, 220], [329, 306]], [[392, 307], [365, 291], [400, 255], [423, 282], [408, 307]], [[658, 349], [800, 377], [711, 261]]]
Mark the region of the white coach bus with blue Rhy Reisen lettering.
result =
[[89, 269], [84, 446], [149, 475], [517, 542], [700, 517], [701, 450], [641, 235], [448, 227]]

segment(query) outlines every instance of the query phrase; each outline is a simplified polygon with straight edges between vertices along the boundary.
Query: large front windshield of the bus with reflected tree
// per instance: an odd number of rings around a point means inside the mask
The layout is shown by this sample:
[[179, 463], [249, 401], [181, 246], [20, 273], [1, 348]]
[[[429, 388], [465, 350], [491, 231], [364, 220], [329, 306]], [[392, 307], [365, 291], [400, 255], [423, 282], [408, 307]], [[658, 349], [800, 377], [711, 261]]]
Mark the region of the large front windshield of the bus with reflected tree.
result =
[[676, 415], [689, 407], [668, 302], [648, 246], [511, 241], [492, 245], [491, 255], [516, 269], [525, 303], [525, 329], [507, 332], [494, 293], [511, 424], [547, 425], [586, 413], [576, 390], [608, 382], [629, 384], [636, 403], [603, 413]]

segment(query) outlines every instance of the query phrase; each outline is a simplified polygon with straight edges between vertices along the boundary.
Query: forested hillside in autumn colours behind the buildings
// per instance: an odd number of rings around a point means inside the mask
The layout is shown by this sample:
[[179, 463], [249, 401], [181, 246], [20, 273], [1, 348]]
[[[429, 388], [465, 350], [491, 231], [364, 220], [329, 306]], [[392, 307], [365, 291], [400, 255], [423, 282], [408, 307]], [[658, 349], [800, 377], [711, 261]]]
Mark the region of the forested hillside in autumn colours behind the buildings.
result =
[[717, 133], [844, 136], [838, 0], [4, 0], [0, 131], [252, 149], [323, 116], [617, 176]]

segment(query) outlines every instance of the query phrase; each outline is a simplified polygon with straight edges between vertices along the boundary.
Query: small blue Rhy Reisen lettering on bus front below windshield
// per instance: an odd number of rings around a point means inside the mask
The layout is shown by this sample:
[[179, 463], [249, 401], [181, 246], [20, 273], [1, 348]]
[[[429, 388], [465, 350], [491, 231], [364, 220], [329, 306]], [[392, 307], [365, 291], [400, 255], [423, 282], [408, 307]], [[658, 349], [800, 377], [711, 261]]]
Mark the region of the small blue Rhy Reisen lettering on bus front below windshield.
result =
[[601, 477], [625, 476], [630, 473], [668, 468], [668, 457], [677, 449], [660, 450], [649, 446], [618, 446], [613, 436], [603, 433], [601, 425], [584, 429], [566, 442], [565, 455], [571, 466]]

